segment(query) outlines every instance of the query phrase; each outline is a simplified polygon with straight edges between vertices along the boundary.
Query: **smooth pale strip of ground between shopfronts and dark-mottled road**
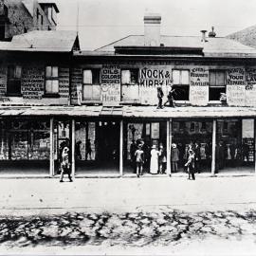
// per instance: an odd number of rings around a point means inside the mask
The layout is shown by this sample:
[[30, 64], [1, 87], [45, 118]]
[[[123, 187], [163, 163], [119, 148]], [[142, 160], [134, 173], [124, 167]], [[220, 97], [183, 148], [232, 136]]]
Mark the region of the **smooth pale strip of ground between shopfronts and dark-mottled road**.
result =
[[[66, 179], [67, 181], [67, 179]], [[66, 211], [256, 209], [256, 177], [0, 179], [2, 215]]]

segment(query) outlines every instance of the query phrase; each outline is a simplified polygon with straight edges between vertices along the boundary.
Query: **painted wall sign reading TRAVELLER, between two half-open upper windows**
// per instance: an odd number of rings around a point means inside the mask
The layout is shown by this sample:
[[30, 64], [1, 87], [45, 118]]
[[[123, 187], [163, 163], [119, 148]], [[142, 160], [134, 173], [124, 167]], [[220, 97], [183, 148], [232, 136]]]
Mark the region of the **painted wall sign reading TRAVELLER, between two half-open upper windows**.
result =
[[205, 106], [209, 101], [209, 70], [195, 67], [191, 70], [190, 101], [192, 105]]

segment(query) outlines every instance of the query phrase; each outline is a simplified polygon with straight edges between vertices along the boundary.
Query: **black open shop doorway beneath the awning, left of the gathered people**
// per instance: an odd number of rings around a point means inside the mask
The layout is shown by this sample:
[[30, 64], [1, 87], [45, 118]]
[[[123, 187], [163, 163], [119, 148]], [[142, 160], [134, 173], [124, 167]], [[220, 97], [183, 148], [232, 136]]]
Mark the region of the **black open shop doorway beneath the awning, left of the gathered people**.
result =
[[96, 130], [98, 142], [97, 160], [101, 165], [119, 163], [119, 122], [99, 122]]

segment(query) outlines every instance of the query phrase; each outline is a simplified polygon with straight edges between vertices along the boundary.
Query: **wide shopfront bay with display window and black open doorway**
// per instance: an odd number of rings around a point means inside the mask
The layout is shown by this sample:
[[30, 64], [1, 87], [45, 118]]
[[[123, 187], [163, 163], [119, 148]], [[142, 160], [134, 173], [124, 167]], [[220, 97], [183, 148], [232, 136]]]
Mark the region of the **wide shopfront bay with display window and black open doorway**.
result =
[[119, 174], [119, 121], [77, 120], [76, 174]]

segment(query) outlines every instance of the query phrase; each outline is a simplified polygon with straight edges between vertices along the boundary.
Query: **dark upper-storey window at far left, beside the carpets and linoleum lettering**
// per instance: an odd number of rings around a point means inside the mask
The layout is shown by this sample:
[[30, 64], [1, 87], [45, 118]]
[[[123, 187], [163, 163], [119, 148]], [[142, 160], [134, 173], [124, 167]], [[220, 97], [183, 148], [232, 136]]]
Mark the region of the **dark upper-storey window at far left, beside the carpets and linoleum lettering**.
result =
[[9, 65], [8, 67], [8, 96], [21, 96], [22, 67], [20, 65]]

